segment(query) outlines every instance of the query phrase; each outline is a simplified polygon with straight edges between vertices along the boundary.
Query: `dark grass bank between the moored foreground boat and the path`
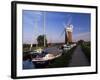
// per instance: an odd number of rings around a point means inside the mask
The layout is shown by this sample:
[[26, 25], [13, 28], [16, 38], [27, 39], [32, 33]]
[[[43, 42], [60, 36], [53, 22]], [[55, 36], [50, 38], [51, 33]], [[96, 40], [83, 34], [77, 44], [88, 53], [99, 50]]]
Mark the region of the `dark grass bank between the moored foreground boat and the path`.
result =
[[67, 67], [75, 48], [76, 47], [73, 47], [69, 51], [63, 51], [62, 56], [60, 56], [59, 58], [56, 58], [47, 67], [48, 68]]

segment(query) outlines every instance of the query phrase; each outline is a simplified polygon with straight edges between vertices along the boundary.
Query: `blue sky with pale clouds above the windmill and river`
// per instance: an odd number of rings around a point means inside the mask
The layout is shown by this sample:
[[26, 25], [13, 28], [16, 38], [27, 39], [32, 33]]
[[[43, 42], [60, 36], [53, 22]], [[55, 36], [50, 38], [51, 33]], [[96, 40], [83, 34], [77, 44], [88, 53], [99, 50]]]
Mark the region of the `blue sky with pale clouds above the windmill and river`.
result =
[[64, 27], [68, 24], [73, 25], [73, 41], [90, 41], [90, 20], [89, 13], [23, 10], [23, 43], [37, 43], [37, 37], [44, 34], [44, 22], [48, 43], [65, 42]]

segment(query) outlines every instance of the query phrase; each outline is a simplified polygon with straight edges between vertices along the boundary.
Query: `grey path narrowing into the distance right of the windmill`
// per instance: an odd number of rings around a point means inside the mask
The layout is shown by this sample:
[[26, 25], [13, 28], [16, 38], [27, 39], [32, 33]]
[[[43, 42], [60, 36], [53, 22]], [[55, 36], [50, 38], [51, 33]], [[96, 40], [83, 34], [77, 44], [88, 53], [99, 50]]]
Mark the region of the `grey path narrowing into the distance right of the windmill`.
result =
[[76, 50], [72, 55], [72, 59], [69, 62], [69, 67], [74, 66], [89, 66], [89, 62], [84, 53], [82, 52], [80, 46], [76, 47]]

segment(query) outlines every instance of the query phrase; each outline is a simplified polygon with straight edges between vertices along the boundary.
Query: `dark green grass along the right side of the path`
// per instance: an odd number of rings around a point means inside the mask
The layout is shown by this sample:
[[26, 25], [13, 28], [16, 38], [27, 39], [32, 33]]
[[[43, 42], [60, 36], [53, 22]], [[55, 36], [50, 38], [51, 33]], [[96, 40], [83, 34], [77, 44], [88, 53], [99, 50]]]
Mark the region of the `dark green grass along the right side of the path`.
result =
[[90, 45], [81, 44], [82, 51], [86, 55], [89, 62], [91, 62], [91, 48]]

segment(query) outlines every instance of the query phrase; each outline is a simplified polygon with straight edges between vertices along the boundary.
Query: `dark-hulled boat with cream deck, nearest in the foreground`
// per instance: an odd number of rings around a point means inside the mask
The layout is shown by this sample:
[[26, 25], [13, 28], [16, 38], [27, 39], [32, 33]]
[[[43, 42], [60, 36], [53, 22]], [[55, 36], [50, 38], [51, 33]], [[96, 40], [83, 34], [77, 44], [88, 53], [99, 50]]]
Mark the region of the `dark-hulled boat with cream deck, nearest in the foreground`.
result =
[[57, 48], [46, 48], [42, 50], [41, 53], [38, 53], [38, 51], [33, 51], [31, 54], [33, 56], [35, 55], [35, 57], [32, 58], [33, 64], [35, 64], [37, 68], [41, 68], [49, 64], [54, 59], [60, 57], [62, 55], [62, 50]]

